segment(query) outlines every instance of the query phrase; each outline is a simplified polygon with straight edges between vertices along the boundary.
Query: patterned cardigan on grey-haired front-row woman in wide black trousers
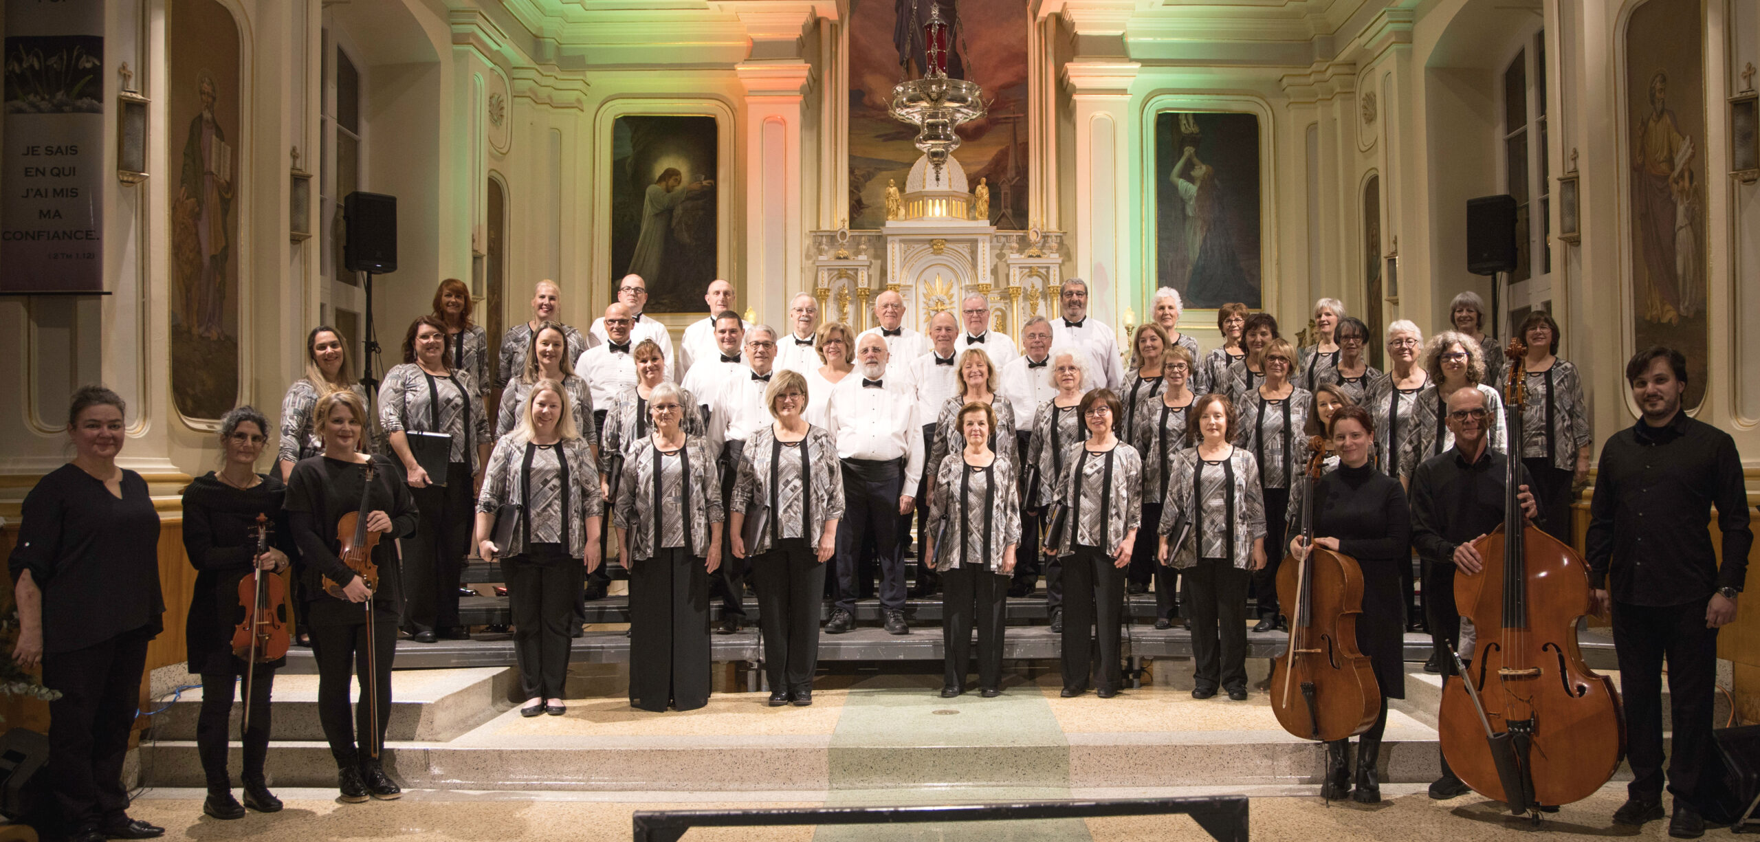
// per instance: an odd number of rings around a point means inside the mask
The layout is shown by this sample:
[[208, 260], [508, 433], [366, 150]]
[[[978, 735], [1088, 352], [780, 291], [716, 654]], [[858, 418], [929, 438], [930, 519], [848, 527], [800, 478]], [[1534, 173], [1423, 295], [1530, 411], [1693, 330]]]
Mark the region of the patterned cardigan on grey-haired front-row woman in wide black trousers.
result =
[[[679, 512], [655, 512], [655, 446], [653, 436], [644, 436], [630, 446], [623, 461], [623, 478], [618, 480], [618, 501], [612, 512], [612, 524], [628, 529], [625, 547], [630, 559], [642, 561], [655, 557], [660, 543], [656, 534], [658, 515], [679, 517]], [[690, 536], [690, 554], [704, 559], [709, 555], [709, 524], [725, 520], [722, 512], [720, 473], [709, 446], [697, 436], [685, 436], [685, 482], [690, 496], [685, 508], [690, 512], [686, 534]]]

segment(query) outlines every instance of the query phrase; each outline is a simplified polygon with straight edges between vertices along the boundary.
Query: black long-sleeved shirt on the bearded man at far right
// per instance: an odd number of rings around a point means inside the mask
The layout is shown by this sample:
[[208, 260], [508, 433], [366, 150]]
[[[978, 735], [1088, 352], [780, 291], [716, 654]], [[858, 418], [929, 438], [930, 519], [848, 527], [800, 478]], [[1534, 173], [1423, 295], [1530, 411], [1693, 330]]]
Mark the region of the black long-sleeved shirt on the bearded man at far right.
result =
[[[1723, 531], [1723, 568], [1711, 548], [1711, 506]], [[1676, 413], [1642, 418], [1602, 445], [1589, 501], [1589, 584], [1628, 605], [1684, 605], [1748, 578], [1748, 492], [1735, 439]]]

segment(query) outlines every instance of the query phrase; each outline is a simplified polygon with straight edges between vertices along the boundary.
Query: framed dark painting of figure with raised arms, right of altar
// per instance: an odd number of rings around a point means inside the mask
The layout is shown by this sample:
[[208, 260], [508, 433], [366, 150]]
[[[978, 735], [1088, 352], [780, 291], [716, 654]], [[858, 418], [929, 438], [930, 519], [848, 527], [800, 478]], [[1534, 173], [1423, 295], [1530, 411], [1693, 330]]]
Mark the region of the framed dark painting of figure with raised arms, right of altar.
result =
[[1155, 274], [1186, 309], [1260, 308], [1258, 118], [1155, 116]]

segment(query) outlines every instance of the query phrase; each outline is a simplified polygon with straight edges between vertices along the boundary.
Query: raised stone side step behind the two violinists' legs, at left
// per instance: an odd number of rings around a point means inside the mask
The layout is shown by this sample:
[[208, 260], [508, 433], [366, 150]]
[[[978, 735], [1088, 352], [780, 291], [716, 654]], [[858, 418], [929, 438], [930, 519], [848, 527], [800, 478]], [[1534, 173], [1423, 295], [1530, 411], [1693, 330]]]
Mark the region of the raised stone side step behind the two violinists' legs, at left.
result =
[[[310, 650], [308, 650], [310, 652]], [[310, 657], [308, 657], [310, 659]], [[463, 670], [403, 670], [392, 675], [389, 740], [444, 742], [477, 728], [512, 707], [509, 698], [517, 691], [519, 671], [512, 666], [479, 666]], [[238, 691], [243, 694], [243, 689]], [[350, 684], [348, 696], [359, 701], [359, 686]], [[283, 670], [275, 677], [276, 740], [324, 740], [317, 712], [319, 677]], [[153, 715], [150, 738], [194, 740], [195, 721], [202, 707], [202, 689], [188, 689]], [[234, 701], [227, 733], [238, 738], [245, 705]]]

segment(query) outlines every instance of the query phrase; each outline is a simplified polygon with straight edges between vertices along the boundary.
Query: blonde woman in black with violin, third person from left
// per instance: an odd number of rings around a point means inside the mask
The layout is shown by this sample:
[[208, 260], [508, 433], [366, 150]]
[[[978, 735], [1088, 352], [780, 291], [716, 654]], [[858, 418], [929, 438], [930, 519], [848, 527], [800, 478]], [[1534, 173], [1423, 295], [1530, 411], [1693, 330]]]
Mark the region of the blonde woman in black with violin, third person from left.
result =
[[[357, 452], [366, 408], [354, 392], [331, 392], [313, 408], [324, 454], [301, 459], [287, 480], [287, 520], [299, 545], [299, 578], [304, 584], [303, 613], [312, 629], [312, 657], [319, 663], [319, 722], [336, 759], [341, 800], [361, 803], [368, 795], [398, 798], [398, 784], [385, 777], [378, 749], [391, 721], [391, 657], [398, 645], [396, 538], [415, 529], [415, 501], [391, 461]], [[380, 533], [373, 547], [378, 589], [338, 557], [336, 522], [361, 512], [366, 466], [371, 461], [371, 490], [366, 494], [366, 529]], [[324, 585], [340, 584], [343, 598]], [[371, 608], [363, 603], [371, 601]], [[371, 659], [366, 670], [368, 613], [371, 613]], [[359, 666], [357, 666], [359, 659]], [[348, 721], [348, 679], [359, 671], [361, 698]], [[377, 694], [370, 694], [377, 689]], [[377, 708], [377, 710], [375, 710]], [[377, 722], [371, 714], [377, 712]]]

